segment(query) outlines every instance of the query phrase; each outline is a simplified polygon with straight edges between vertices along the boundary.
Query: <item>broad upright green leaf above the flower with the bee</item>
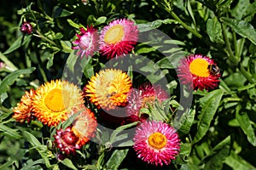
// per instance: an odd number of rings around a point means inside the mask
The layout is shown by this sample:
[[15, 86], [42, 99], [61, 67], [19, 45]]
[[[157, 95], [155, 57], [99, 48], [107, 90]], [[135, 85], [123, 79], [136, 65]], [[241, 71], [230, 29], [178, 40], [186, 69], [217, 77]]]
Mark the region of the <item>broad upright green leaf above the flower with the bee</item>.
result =
[[224, 43], [221, 24], [216, 16], [207, 20], [207, 34], [212, 42]]

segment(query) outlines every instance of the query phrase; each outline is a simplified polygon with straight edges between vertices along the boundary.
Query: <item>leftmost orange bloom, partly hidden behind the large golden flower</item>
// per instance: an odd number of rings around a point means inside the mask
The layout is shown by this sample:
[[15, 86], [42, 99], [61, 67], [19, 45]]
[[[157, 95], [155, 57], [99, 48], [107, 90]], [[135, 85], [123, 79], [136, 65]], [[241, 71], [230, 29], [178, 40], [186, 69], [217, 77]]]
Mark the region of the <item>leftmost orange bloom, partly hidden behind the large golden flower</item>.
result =
[[29, 92], [25, 92], [25, 94], [21, 97], [20, 103], [13, 109], [14, 115], [13, 118], [16, 119], [17, 122], [31, 122], [32, 120], [32, 98], [35, 95], [35, 90], [30, 89]]

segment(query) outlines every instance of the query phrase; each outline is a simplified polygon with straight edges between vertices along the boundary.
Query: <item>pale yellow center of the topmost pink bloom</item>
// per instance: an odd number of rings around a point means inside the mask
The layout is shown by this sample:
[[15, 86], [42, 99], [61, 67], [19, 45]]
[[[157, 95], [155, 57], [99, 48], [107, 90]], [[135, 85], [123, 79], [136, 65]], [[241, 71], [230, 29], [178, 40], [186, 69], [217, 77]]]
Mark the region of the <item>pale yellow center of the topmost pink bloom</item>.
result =
[[106, 43], [116, 43], [120, 42], [125, 35], [124, 27], [121, 25], [112, 26], [109, 28], [109, 30], [106, 32], [104, 41]]

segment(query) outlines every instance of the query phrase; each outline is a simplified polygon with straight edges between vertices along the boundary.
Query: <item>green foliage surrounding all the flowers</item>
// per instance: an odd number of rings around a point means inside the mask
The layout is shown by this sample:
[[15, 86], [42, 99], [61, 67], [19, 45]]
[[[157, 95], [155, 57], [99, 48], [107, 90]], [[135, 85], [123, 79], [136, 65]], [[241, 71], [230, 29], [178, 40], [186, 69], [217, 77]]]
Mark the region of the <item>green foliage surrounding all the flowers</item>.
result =
[[[0, 8], [0, 169], [256, 169], [256, 2], [26, 0], [3, 2]], [[85, 58], [73, 50], [81, 27], [100, 32], [119, 18], [133, 20], [140, 35], [124, 60], [109, 61], [98, 53]], [[32, 35], [20, 32], [23, 21], [32, 24]], [[214, 59], [222, 73], [217, 88], [189, 92], [183, 87], [176, 69], [189, 54]], [[139, 111], [177, 128], [181, 149], [168, 166], [137, 158], [132, 138], [139, 122], [110, 123], [109, 131], [98, 127], [93, 142], [61, 160], [53, 136], [57, 128], [72, 126], [79, 112], [57, 127], [12, 118], [25, 90], [53, 79], [82, 89], [102, 68], [123, 65], [133, 88], [149, 81], [170, 93]], [[85, 105], [100, 121], [101, 110], [88, 99]]]

